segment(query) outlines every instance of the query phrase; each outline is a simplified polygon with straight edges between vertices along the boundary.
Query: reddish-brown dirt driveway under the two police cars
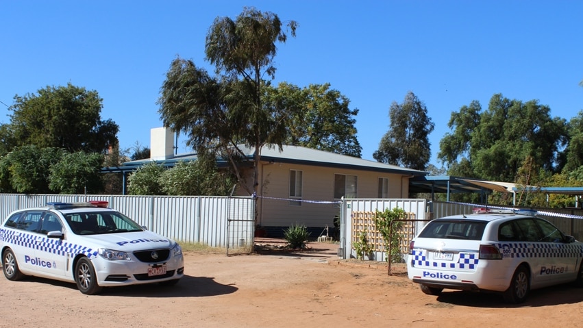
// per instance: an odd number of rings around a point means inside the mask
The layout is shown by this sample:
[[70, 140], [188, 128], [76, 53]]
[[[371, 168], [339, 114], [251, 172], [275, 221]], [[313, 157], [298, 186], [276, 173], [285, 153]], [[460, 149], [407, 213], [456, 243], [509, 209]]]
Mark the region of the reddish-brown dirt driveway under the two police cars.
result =
[[[522, 305], [494, 294], [425, 295], [404, 268], [311, 252], [186, 253], [177, 286], [81, 294], [73, 284], [0, 277], [0, 327], [583, 327], [583, 290], [532, 292]], [[369, 264], [374, 264], [370, 266]]]

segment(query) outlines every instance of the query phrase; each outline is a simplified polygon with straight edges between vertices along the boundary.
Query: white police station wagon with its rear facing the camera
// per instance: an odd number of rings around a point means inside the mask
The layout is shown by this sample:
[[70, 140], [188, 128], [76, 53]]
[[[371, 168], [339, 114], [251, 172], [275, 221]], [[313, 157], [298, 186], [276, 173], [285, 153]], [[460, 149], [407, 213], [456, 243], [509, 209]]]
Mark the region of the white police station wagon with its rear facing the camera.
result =
[[559, 283], [583, 285], [583, 243], [530, 210], [488, 210], [432, 220], [412, 240], [408, 277], [425, 294], [501, 292], [508, 303]]

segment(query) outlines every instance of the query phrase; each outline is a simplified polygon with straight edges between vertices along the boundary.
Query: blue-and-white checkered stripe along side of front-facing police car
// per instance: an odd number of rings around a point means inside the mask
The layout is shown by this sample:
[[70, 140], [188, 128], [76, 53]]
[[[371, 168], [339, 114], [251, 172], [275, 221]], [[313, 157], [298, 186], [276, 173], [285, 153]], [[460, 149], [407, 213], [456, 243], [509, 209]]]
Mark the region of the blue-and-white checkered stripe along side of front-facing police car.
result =
[[57, 238], [47, 238], [14, 230], [3, 230], [2, 236], [4, 242], [30, 249], [37, 249], [38, 251], [45, 251], [57, 255], [66, 255], [66, 253], [73, 256], [83, 254], [90, 258], [97, 256], [97, 250], [92, 250], [88, 247], [79, 244], [72, 244], [71, 242], [66, 242]]

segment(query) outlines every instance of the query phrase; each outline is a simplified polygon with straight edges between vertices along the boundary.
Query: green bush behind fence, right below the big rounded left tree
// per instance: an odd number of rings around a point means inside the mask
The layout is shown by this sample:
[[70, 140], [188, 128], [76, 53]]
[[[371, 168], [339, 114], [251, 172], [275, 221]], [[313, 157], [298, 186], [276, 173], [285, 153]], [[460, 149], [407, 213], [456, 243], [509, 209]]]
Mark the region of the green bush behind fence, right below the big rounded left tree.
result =
[[50, 168], [49, 188], [59, 194], [97, 194], [103, 190], [102, 164], [99, 153], [65, 153]]

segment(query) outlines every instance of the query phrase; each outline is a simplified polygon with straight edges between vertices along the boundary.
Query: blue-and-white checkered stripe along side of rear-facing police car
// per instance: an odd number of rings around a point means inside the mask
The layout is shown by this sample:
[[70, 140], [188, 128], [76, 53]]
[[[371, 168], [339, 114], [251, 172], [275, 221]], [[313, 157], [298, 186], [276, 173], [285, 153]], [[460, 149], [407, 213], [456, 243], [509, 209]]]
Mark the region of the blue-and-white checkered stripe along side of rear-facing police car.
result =
[[[505, 257], [582, 257], [583, 247], [557, 242], [499, 242], [495, 244]], [[509, 251], [504, 251], [509, 250]]]

